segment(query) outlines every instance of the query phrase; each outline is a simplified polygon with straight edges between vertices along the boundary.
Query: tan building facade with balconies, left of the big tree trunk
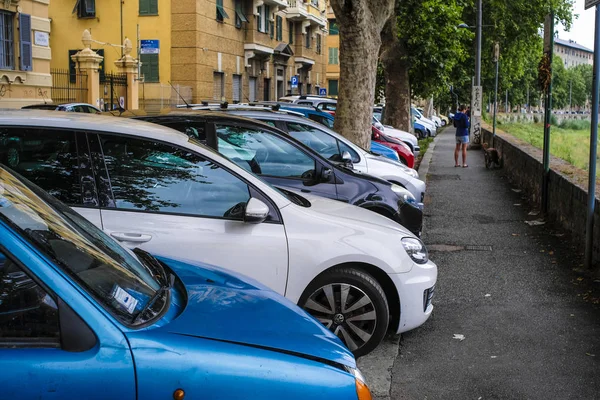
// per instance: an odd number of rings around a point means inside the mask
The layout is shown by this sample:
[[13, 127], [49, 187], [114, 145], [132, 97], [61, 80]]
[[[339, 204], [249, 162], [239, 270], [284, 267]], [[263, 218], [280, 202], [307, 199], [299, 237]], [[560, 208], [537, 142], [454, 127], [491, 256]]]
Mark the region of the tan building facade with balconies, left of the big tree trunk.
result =
[[325, 0], [172, 0], [172, 7], [172, 79], [192, 88], [193, 102], [269, 101], [325, 85]]

